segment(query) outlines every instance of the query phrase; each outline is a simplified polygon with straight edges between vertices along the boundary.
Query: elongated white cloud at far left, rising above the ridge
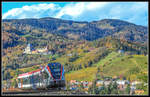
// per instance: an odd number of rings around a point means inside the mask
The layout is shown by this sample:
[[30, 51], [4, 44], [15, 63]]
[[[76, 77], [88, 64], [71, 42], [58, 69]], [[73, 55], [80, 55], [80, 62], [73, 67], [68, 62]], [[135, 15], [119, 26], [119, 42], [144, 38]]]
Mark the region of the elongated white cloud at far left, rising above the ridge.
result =
[[[60, 7], [54, 4], [38, 4], [32, 6], [23, 6], [22, 8], [14, 8], [4, 13], [3, 19], [6, 18], [39, 18], [44, 14], [52, 13]], [[45, 13], [44, 13], [45, 12]]]

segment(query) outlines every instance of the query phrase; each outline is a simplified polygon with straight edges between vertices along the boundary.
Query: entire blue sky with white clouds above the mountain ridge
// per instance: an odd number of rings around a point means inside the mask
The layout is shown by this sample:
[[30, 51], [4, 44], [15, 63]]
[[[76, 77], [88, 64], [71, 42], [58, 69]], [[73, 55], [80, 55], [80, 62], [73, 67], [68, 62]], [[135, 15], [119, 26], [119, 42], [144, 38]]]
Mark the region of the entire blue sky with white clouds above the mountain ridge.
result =
[[2, 19], [121, 19], [148, 26], [148, 2], [2, 2]]

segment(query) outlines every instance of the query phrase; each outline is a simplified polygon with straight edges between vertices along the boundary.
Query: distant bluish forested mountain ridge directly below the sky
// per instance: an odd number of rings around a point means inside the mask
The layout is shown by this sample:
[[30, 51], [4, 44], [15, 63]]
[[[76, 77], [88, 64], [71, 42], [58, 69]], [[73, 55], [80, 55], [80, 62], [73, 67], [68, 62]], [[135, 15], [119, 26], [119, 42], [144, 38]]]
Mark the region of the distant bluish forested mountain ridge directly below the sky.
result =
[[[23, 34], [34, 30], [44, 30], [47, 33], [55, 33], [73, 39], [95, 40], [111, 35], [132, 42], [147, 43], [148, 40], [147, 27], [116, 19], [76, 22], [47, 17], [40, 19], [4, 19], [2, 24], [11, 26]], [[2, 28], [4, 31], [8, 31], [6, 26]]]

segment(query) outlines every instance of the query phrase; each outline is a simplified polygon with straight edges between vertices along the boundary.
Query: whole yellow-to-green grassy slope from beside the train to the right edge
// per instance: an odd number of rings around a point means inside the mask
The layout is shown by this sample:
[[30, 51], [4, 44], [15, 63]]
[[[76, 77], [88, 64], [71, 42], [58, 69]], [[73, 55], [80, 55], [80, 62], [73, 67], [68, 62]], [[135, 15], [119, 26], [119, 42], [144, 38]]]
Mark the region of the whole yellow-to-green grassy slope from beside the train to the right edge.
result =
[[97, 68], [100, 67], [103, 76], [124, 76], [130, 80], [138, 78], [148, 73], [148, 57], [143, 55], [121, 55], [112, 52], [104, 59], [100, 60], [93, 67], [72, 71], [66, 74], [66, 80], [93, 80]]

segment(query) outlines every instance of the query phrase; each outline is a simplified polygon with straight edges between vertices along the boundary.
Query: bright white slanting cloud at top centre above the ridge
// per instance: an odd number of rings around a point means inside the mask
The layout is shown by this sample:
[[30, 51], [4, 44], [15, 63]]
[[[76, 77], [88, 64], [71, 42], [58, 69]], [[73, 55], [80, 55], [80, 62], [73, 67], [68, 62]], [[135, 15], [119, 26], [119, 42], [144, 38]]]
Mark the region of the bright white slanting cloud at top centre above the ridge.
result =
[[68, 4], [63, 7], [60, 12], [56, 15], [56, 18], [61, 18], [64, 15], [70, 15], [72, 18], [77, 18], [85, 11], [93, 11], [97, 8], [100, 9], [108, 2], [79, 2], [75, 4]]

